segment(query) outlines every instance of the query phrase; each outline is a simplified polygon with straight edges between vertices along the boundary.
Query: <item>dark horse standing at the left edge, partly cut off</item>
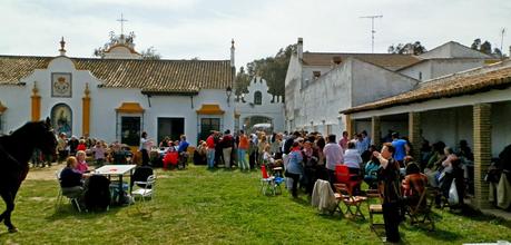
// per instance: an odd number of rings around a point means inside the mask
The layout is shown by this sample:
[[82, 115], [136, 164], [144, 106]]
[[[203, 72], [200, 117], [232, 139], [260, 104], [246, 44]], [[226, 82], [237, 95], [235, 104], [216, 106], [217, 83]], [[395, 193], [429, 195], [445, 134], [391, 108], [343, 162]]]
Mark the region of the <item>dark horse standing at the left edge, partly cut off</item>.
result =
[[46, 121], [27, 122], [11, 135], [0, 137], [0, 195], [6, 202], [6, 210], [0, 214], [0, 222], [3, 220], [9, 232], [18, 231], [11, 223], [11, 213], [14, 209], [16, 194], [29, 171], [28, 161], [33, 149], [53, 154], [56, 147], [57, 139], [49, 118]]

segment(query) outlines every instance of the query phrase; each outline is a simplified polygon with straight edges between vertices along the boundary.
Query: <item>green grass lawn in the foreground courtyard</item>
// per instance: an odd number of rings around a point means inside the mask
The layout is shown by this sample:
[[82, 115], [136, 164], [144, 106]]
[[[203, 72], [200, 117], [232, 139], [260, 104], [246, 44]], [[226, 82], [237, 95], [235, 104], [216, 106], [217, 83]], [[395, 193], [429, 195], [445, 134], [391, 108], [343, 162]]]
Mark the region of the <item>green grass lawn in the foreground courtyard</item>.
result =
[[[40, 171], [37, 169], [36, 171]], [[49, 171], [49, 170], [48, 170]], [[12, 222], [0, 244], [377, 244], [367, 220], [320, 215], [305, 195], [298, 199], [259, 194], [259, 171], [240, 173], [204, 166], [157, 171], [153, 200], [106, 213], [82, 213], [66, 203], [55, 210], [56, 180], [26, 180]], [[4, 209], [3, 202], [0, 208]], [[363, 210], [367, 207], [364, 205]], [[403, 224], [410, 244], [461, 244], [511, 241], [510, 224], [480, 215], [435, 209], [436, 231]]]

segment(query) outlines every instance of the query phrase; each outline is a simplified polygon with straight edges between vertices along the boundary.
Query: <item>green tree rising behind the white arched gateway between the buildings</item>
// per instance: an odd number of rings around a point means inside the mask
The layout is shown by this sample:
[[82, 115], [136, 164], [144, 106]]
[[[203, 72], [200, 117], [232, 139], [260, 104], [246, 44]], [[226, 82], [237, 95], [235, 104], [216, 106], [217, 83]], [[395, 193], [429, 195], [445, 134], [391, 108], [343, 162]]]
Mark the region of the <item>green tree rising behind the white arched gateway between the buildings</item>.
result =
[[245, 69], [240, 68], [239, 71], [243, 70], [244, 74], [238, 72], [236, 76], [236, 82], [239, 91], [246, 91], [246, 87], [249, 84], [249, 78], [259, 76], [266, 80], [269, 94], [275, 96], [283, 96], [284, 98], [284, 81], [286, 79], [289, 59], [294, 51], [296, 51], [296, 45], [289, 45], [286, 48], [281, 48], [275, 57], [266, 57], [248, 62], [246, 71]]

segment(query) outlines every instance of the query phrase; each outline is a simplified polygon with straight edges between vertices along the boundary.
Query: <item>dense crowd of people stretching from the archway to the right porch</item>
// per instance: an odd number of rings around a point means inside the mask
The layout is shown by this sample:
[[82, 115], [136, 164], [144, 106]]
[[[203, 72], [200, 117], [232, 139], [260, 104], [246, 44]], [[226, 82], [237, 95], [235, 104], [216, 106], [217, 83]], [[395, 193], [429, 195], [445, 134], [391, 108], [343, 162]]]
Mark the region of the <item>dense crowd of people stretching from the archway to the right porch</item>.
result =
[[[415, 159], [412, 155], [416, 146], [400, 137], [399, 133], [390, 131], [380, 140], [381, 146], [373, 145], [365, 130], [352, 137], [347, 131], [342, 135], [337, 140], [335, 135], [306, 131], [246, 135], [240, 130], [234, 136], [229, 130], [224, 134], [213, 131], [199, 143], [194, 160], [206, 164], [209, 169], [219, 165], [227, 169], [237, 165], [240, 170], [263, 165], [269, 169], [284, 167], [293, 197], [297, 197], [301, 189], [312, 195], [317, 179], [328, 180], [334, 188], [336, 166], [345, 165], [350, 178], [364, 180], [370, 188], [383, 187], [385, 224], [396, 224], [386, 227], [390, 242], [400, 239], [397, 202], [404, 199], [410, 205], [416, 204], [426, 186], [439, 188], [436, 205], [441, 205], [455, 179], [459, 204], [463, 204], [465, 184], [470, 178], [468, 168], [473, 161], [466, 140], [461, 140], [458, 150], [453, 150], [442, 141], [430, 145], [424, 139]], [[361, 192], [360, 186], [355, 186], [354, 192]]]

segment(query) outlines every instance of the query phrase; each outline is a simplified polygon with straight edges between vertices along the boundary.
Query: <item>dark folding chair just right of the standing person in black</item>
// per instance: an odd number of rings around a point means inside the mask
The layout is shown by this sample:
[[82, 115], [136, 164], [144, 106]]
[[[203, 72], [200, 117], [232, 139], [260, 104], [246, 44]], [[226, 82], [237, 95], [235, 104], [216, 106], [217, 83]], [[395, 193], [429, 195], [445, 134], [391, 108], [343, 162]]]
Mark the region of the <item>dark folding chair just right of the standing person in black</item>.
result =
[[406, 214], [410, 216], [410, 224], [431, 225], [431, 231], [434, 231], [434, 219], [431, 217], [431, 208], [434, 204], [434, 198], [438, 190], [426, 188], [422, 192], [419, 202], [414, 205], [406, 205]]

